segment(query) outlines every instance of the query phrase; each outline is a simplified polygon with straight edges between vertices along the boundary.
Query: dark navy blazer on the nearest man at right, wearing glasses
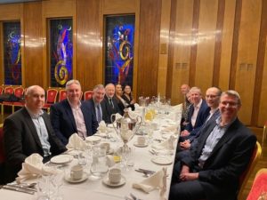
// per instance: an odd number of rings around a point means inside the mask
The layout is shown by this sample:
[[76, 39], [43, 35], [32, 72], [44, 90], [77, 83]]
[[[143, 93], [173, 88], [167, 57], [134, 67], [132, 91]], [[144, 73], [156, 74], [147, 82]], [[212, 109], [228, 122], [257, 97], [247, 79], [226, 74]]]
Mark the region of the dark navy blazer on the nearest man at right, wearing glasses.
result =
[[[215, 122], [207, 125], [198, 137], [198, 146], [190, 156], [182, 158], [182, 164], [190, 170], [198, 169], [198, 158], [205, 147], [206, 139], [213, 131]], [[215, 145], [199, 171], [198, 181], [204, 188], [207, 200], [235, 199], [239, 189], [239, 177], [247, 168], [255, 149], [256, 137], [237, 118]]]

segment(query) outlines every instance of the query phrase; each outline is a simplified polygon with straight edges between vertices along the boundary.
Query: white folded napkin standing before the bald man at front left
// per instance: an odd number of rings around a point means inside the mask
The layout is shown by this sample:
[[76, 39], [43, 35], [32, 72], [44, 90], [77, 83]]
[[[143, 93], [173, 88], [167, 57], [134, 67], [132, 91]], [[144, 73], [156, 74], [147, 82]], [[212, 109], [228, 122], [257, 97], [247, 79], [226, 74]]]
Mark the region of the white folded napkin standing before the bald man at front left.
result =
[[34, 178], [37, 175], [54, 174], [57, 172], [57, 170], [43, 164], [42, 156], [40, 156], [39, 154], [32, 154], [26, 157], [24, 163], [22, 164], [22, 169], [20, 170], [20, 172], [18, 172], [16, 181], [20, 183], [23, 180]]

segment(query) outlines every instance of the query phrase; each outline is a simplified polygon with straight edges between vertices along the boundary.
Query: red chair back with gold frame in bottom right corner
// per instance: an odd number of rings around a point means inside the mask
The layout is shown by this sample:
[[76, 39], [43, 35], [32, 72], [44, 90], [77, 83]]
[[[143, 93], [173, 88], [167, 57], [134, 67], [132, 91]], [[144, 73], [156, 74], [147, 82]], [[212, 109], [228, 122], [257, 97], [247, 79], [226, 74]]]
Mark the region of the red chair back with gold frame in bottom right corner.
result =
[[256, 172], [252, 187], [247, 196], [247, 200], [267, 199], [267, 168], [262, 168]]

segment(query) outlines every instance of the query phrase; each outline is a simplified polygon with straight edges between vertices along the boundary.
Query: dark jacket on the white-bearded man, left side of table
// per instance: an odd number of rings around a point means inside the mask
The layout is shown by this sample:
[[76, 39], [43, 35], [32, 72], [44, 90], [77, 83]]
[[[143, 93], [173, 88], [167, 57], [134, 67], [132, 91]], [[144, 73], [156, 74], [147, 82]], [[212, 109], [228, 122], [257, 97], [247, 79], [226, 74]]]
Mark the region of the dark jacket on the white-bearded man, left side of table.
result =
[[104, 100], [101, 101], [102, 118], [107, 124], [111, 124], [110, 116], [112, 114], [119, 113], [119, 108], [117, 106], [117, 100], [115, 100], [115, 96], [113, 96], [112, 98], [112, 103], [114, 105], [114, 108], [110, 106], [107, 95], [105, 95]]

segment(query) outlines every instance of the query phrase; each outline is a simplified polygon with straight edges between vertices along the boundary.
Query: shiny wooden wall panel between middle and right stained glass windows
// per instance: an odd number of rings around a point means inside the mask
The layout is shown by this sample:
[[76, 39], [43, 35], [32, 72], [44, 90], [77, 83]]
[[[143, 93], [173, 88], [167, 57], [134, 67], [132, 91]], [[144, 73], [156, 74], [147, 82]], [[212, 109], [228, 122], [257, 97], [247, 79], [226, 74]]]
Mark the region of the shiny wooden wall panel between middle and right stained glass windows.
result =
[[[93, 8], [93, 9], [92, 9]], [[77, 79], [83, 90], [102, 83], [99, 0], [77, 1]]]

